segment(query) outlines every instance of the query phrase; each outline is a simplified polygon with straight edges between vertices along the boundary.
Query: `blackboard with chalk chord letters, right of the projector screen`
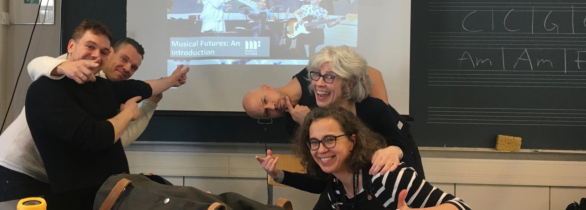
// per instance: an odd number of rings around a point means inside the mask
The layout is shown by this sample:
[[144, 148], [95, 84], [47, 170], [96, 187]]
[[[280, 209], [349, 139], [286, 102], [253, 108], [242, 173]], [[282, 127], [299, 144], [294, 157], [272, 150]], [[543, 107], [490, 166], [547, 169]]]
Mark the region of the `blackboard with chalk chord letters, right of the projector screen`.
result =
[[419, 146], [586, 149], [586, 2], [411, 2]]

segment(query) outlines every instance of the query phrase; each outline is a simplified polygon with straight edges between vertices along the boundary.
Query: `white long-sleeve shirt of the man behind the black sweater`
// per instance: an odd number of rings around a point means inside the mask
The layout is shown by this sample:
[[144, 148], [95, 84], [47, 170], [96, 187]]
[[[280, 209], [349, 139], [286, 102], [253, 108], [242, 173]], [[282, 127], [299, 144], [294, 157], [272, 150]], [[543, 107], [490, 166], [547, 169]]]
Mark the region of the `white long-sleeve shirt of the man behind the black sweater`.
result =
[[[44, 56], [33, 59], [27, 67], [30, 78], [33, 81], [43, 76], [54, 80], [63, 78], [64, 75], [51, 75], [51, 71], [66, 61], [66, 58], [67, 54], [63, 54], [57, 58]], [[106, 78], [103, 71], [100, 71], [96, 75]], [[156, 106], [154, 102], [148, 99], [142, 101], [142, 105], [139, 108], [141, 115], [137, 120], [128, 124], [127, 129], [120, 137], [122, 146], [126, 147], [130, 145], [144, 132], [155, 112]], [[21, 113], [16, 117], [15, 121], [0, 135], [0, 166], [29, 175], [45, 183], [49, 182], [45, 166], [43, 166], [43, 161], [40, 159], [39, 151], [36, 149], [35, 142], [33, 142], [32, 136], [30, 135], [29, 126], [26, 122], [25, 108], [22, 108]]]

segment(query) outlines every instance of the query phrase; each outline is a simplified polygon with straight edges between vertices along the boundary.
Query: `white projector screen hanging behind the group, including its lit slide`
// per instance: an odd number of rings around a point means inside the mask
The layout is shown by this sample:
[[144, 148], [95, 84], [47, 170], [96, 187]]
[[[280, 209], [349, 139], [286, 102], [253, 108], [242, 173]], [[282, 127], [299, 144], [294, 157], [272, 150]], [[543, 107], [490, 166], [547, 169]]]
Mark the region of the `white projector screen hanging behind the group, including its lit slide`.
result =
[[145, 48], [132, 78], [184, 64], [188, 83], [163, 93], [159, 110], [243, 111], [249, 89], [287, 84], [314, 47], [346, 45], [381, 71], [390, 104], [408, 114], [410, 1], [258, 1], [128, 0], [127, 36]]

